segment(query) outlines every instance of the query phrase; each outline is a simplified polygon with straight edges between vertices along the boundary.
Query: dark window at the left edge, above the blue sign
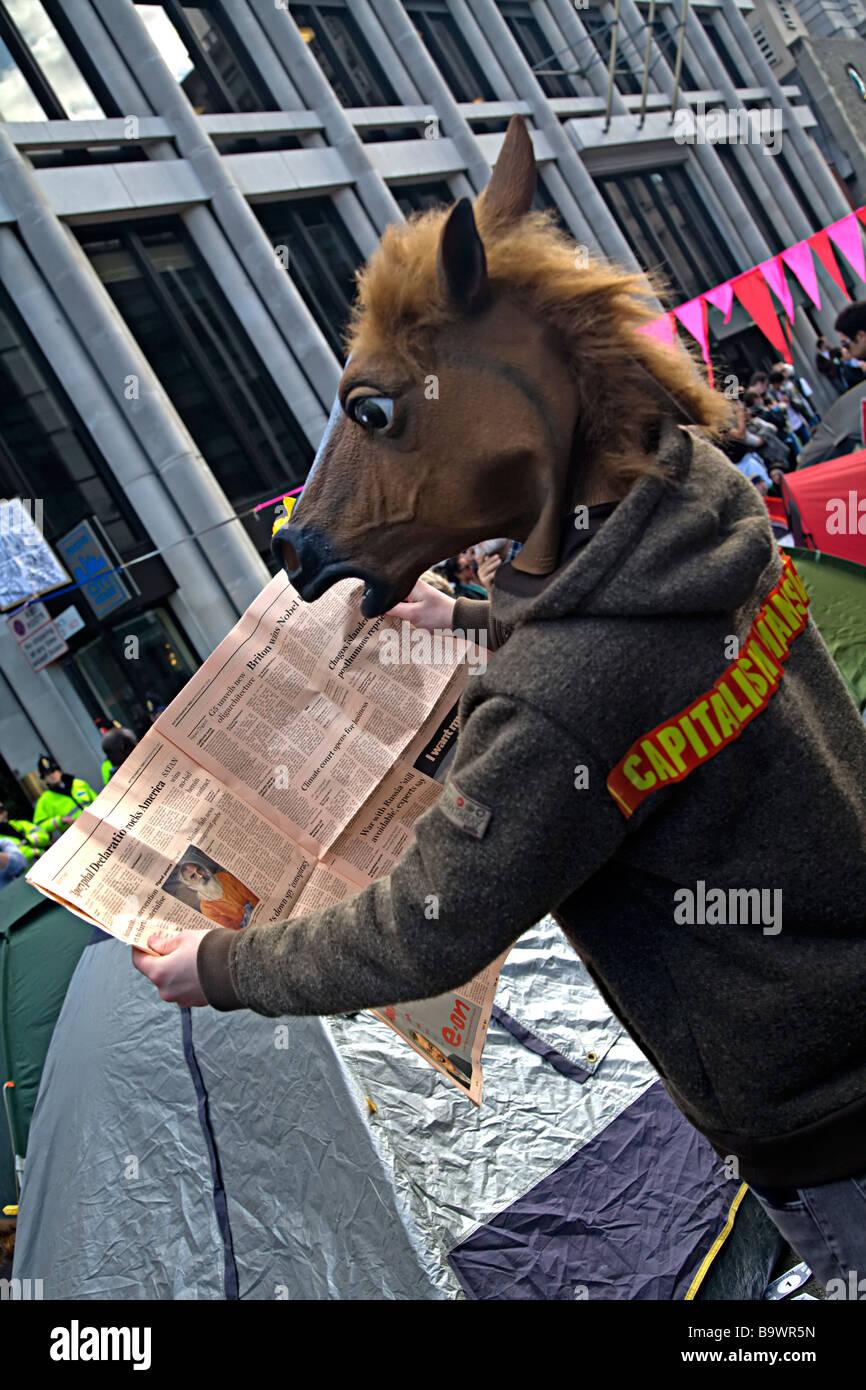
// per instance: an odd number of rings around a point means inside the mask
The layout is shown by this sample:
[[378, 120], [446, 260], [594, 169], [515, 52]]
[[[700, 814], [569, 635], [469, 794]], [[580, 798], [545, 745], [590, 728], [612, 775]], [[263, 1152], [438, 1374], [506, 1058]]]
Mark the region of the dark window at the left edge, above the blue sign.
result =
[[0, 493], [40, 498], [56, 541], [97, 516], [124, 559], [147, 535], [18, 313], [0, 292]]

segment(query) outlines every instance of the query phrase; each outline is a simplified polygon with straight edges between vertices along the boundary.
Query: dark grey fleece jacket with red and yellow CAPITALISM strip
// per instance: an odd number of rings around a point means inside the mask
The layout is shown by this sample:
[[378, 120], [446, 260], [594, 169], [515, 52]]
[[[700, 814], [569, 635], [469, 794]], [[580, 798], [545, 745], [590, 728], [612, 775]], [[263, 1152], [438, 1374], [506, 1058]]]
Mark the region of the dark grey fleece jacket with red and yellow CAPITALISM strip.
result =
[[[300, 920], [209, 933], [199, 976], [217, 1008], [271, 1016], [417, 999], [555, 910], [742, 1177], [831, 1182], [866, 1169], [866, 728], [790, 584], [787, 624], [762, 617], [783, 566], [755, 488], [673, 424], [660, 453], [676, 481], [642, 478], [541, 592], [498, 580], [507, 641], [468, 681], [450, 787], [393, 873]], [[763, 890], [781, 926], [733, 890]]]

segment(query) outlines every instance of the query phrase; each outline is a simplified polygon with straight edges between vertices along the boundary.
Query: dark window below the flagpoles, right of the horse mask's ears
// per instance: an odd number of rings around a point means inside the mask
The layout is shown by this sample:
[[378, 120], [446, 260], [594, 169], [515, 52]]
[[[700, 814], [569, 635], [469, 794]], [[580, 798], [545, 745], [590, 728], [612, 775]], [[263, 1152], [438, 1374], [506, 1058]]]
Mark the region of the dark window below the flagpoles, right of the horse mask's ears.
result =
[[741, 270], [681, 164], [602, 177], [598, 186], [644, 270], [667, 279], [671, 306]]

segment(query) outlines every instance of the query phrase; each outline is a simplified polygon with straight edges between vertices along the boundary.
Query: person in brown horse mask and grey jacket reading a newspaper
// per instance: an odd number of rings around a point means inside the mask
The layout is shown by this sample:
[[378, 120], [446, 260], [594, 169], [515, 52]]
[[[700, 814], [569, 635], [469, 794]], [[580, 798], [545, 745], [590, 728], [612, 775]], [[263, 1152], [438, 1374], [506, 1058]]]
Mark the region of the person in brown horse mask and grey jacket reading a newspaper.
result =
[[[474, 208], [388, 228], [279, 532], [309, 602], [354, 575], [368, 617], [487, 621], [442, 796], [363, 892], [136, 963], [179, 1004], [341, 1013], [457, 987], [553, 910], [683, 1113], [845, 1277], [866, 1270], [866, 730], [708, 442], [726, 402], [641, 331], [646, 281], [575, 256], [534, 188], [516, 118]], [[489, 612], [416, 587], [491, 535], [523, 549]]]

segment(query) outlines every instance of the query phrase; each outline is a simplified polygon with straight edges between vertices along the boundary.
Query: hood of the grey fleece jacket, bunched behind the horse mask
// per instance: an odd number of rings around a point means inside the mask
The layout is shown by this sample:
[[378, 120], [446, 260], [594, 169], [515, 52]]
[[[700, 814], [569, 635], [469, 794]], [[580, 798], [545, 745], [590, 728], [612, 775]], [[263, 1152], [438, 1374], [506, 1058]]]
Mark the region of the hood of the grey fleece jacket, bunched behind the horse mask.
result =
[[763, 500], [719, 449], [664, 421], [657, 459], [601, 530], [534, 598], [496, 589], [506, 626], [574, 613], [671, 617], [746, 602], [776, 552]]

